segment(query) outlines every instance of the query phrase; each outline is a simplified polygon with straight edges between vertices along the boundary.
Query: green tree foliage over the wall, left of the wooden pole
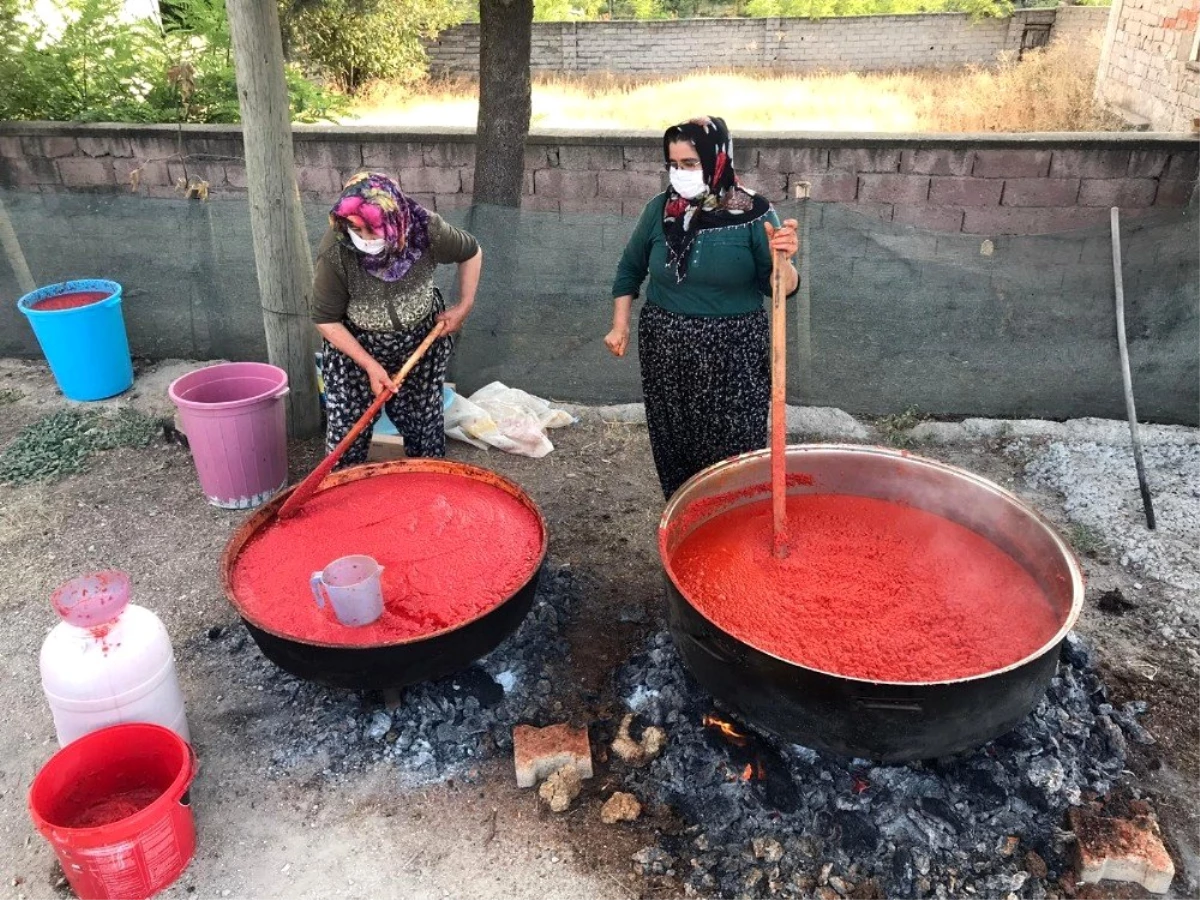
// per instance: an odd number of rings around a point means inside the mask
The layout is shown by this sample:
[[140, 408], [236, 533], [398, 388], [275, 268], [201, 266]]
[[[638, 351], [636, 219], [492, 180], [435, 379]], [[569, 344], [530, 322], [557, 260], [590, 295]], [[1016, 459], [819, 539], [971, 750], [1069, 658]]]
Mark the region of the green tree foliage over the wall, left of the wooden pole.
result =
[[[121, 17], [120, 0], [65, 0], [65, 25], [0, 0], [0, 119], [235, 122], [238, 84], [224, 0], [176, 0], [163, 29]], [[289, 66], [298, 121], [332, 119], [344, 100]]]

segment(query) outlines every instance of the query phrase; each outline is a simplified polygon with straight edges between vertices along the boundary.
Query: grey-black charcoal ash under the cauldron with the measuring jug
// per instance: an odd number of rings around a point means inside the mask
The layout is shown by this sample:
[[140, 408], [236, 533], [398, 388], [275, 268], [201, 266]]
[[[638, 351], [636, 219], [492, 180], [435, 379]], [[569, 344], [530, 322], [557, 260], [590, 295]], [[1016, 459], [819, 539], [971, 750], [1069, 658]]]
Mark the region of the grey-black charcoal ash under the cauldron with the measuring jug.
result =
[[[581, 593], [566, 565], [547, 565], [529, 614], [491, 654], [438, 682], [412, 685], [389, 704], [374, 691], [328, 688], [290, 676], [258, 650], [246, 628], [206, 629], [182, 653], [229, 683], [245, 728], [262, 728], [264, 774], [319, 767], [338, 780], [389, 764], [413, 784], [468, 776], [510, 750], [512, 726], [564, 718], [566, 624]], [[253, 712], [250, 712], [253, 710]]]

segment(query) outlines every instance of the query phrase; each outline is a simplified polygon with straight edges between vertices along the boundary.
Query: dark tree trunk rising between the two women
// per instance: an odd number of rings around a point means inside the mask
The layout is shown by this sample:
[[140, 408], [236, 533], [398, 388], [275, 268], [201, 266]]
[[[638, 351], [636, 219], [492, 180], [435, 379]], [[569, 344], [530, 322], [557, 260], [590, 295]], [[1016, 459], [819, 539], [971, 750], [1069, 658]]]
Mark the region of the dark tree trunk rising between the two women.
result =
[[480, 0], [476, 205], [521, 205], [532, 37], [533, 0]]

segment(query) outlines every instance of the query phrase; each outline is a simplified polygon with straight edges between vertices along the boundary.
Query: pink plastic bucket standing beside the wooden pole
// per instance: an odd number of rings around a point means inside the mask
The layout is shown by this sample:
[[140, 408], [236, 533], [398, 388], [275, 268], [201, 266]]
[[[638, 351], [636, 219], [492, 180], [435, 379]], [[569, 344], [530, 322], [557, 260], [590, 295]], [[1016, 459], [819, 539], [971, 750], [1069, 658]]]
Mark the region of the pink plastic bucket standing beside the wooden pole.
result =
[[168, 392], [209, 503], [251, 509], [287, 484], [287, 372], [222, 362], [176, 378]]

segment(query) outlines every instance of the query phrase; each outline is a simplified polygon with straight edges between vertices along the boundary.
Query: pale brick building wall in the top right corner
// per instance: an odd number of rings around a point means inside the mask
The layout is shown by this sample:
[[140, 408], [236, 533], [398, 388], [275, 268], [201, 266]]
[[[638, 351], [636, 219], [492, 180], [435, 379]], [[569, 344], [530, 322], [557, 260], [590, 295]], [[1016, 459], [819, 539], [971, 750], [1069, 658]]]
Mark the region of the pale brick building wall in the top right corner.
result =
[[1115, 0], [1097, 95], [1153, 131], [1192, 131], [1200, 118], [1198, 28], [1200, 0]]

